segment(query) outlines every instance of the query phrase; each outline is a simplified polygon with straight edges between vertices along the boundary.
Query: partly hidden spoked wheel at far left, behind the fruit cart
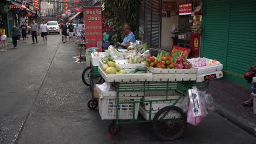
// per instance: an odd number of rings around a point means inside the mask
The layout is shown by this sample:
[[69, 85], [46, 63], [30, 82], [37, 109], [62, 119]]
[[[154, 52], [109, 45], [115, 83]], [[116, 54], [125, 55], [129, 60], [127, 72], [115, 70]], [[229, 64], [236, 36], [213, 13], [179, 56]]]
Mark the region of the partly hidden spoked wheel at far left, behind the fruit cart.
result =
[[[86, 86], [91, 86], [91, 68], [87, 67], [82, 73], [82, 80]], [[101, 76], [94, 76], [94, 82], [99, 83], [102, 80]]]

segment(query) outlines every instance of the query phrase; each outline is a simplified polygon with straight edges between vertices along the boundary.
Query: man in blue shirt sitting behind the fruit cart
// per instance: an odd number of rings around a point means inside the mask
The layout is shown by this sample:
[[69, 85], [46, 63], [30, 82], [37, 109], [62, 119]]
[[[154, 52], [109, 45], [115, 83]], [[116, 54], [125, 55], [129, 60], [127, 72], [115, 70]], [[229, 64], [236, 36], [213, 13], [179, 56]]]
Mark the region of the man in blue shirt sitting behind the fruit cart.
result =
[[127, 47], [130, 45], [129, 42], [135, 43], [135, 35], [131, 32], [131, 27], [129, 25], [123, 26], [123, 32], [125, 34], [125, 38], [123, 40], [123, 43], [117, 43], [118, 49], [127, 49]]

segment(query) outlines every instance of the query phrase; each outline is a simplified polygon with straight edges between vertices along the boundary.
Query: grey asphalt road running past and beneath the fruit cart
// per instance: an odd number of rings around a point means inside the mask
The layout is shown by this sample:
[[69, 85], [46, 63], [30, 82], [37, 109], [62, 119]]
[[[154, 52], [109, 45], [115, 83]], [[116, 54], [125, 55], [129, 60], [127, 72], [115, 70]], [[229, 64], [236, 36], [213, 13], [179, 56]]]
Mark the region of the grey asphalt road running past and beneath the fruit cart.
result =
[[210, 112], [188, 125], [179, 140], [158, 140], [150, 123], [127, 124], [117, 136], [107, 132], [97, 110], [89, 110], [90, 89], [74, 63], [74, 42], [48, 35], [48, 44], [18, 44], [0, 52], [0, 143], [256, 143], [256, 138]]

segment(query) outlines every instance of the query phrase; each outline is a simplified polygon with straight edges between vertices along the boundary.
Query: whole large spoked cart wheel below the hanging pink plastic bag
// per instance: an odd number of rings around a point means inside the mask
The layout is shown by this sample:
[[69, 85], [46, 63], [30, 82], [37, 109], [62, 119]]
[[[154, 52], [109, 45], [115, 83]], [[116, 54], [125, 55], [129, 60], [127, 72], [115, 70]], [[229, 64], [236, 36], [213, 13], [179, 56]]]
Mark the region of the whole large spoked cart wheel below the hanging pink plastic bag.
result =
[[179, 107], [166, 106], [153, 118], [155, 134], [164, 141], [178, 139], [187, 128], [186, 121], [187, 118]]

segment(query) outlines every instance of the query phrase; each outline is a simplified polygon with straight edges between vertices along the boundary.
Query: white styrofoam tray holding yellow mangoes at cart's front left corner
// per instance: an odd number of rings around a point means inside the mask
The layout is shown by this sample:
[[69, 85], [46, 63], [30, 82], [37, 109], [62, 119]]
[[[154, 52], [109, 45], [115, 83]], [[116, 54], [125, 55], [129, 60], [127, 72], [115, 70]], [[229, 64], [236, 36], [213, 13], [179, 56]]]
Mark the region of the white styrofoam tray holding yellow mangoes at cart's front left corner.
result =
[[[127, 73], [129, 70], [126, 70]], [[98, 67], [98, 71], [107, 82], [153, 81], [153, 75], [149, 72], [146, 74], [107, 74], [101, 67]]]

